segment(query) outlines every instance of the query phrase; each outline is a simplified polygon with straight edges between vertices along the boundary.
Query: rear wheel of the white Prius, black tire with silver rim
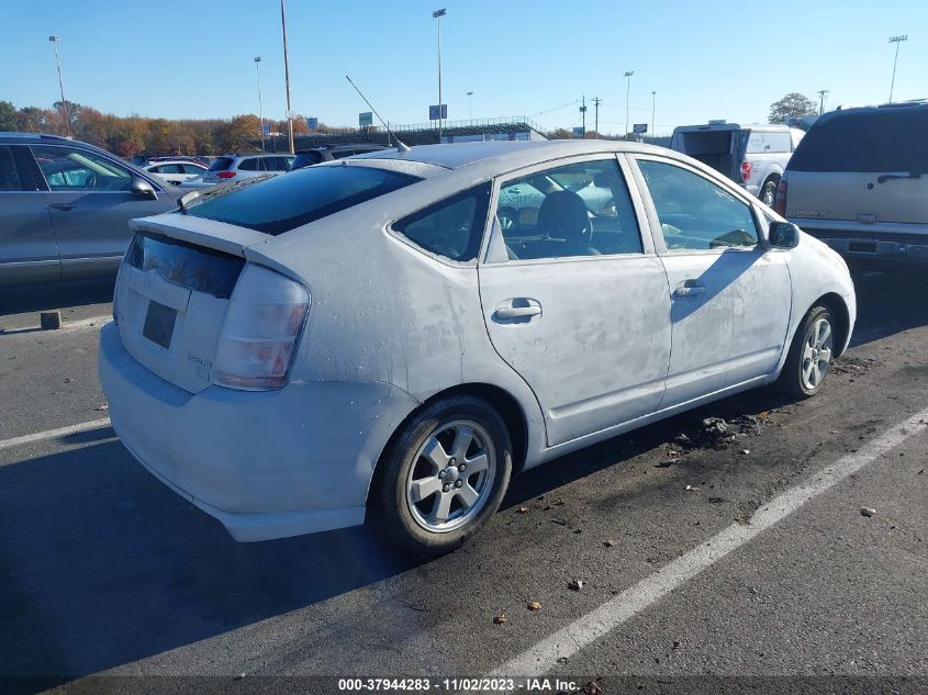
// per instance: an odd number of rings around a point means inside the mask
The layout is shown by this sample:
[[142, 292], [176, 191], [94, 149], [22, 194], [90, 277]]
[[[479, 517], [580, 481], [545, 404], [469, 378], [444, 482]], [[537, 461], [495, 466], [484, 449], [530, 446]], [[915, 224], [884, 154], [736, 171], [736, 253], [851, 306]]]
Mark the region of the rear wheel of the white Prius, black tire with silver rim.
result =
[[496, 513], [511, 475], [512, 440], [495, 408], [443, 399], [411, 417], [381, 457], [371, 519], [409, 552], [450, 552]]

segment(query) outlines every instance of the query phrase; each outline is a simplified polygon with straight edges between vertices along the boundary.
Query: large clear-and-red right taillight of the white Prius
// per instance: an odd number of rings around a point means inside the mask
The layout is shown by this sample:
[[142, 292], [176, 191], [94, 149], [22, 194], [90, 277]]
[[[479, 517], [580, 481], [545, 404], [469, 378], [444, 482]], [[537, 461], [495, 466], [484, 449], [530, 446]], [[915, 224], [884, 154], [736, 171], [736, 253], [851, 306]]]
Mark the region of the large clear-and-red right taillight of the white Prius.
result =
[[215, 383], [232, 389], [280, 389], [310, 309], [302, 284], [247, 264], [232, 296], [216, 347]]

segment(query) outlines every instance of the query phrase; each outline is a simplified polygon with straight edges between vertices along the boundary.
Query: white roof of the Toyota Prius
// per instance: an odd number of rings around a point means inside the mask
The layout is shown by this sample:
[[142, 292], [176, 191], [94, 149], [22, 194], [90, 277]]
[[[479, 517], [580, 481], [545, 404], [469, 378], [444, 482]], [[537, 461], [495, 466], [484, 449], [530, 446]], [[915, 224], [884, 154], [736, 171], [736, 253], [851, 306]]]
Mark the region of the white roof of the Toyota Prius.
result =
[[396, 159], [399, 161], [418, 161], [445, 169], [460, 169], [478, 162], [494, 162], [492, 168], [505, 169], [524, 166], [533, 161], [544, 161], [558, 157], [606, 152], [666, 153], [662, 147], [642, 145], [627, 141], [490, 141], [481, 143], [449, 143], [443, 145], [417, 145], [409, 150], [388, 149], [366, 153], [353, 157], [355, 161], [365, 159]]

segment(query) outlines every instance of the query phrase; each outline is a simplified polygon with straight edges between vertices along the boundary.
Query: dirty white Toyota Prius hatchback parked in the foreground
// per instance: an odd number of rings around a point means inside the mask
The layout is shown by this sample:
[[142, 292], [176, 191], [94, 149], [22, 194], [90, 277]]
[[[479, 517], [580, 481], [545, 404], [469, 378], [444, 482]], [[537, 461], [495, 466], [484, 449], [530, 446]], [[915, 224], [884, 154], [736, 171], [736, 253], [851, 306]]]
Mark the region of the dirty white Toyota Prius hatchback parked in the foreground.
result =
[[827, 246], [624, 142], [383, 152], [132, 226], [113, 427], [243, 541], [368, 518], [446, 552], [515, 472], [753, 386], [814, 395], [856, 315]]

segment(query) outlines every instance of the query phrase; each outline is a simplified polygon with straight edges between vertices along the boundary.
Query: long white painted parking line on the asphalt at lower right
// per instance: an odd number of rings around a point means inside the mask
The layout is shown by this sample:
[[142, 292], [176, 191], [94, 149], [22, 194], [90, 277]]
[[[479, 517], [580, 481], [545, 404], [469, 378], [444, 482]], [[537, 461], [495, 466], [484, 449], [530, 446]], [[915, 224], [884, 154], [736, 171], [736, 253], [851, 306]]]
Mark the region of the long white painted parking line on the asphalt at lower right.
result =
[[746, 525], [733, 524], [698, 548], [670, 561], [658, 572], [645, 578], [615, 598], [529, 647], [495, 669], [492, 675], [524, 676], [546, 673], [555, 666], [558, 658], [574, 655], [584, 647], [679, 588], [684, 582], [712, 567], [733, 550], [740, 548], [761, 531], [926, 427], [928, 427], [928, 408], [869, 441], [856, 452], [824, 468], [805, 482], [778, 495], [758, 509]]

